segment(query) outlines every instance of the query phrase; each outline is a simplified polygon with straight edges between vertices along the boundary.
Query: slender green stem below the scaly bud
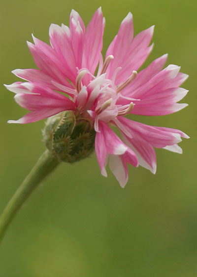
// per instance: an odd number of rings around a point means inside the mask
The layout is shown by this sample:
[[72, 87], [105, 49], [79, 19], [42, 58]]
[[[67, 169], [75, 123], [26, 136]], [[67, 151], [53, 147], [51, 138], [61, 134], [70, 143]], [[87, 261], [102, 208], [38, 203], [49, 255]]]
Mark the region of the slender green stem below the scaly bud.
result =
[[14, 193], [0, 216], [0, 241], [15, 214], [37, 185], [58, 166], [59, 162], [48, 150], [39, 158], [30, 174]]

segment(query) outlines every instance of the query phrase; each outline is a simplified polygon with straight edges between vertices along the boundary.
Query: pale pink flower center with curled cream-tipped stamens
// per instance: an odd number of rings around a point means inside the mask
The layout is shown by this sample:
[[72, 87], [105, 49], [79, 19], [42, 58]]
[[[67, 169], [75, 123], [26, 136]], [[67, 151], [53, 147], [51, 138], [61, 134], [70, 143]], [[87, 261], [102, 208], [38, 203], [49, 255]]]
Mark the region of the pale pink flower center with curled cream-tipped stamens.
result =
[[[137, 71], [132, 71], [131, 76], [120, 83], [118, 86], [115, 84], [115, 79], [120, 67], [114, 71], [112, 79], [107, 79], [106, 70], [113, 60], [114, 56], [109, 55], [98, 71], [98, 76], [93, 76], [88, 69], [83, 68], [79, 70], [76, 78], [76, 103], [80, 113], [88, 111], [93, 117], [93, 120], [102, 120], [110, 122], [115, 120], [117, 116], [126, 115], [133, 109], [133, 98], [125, 97], [121, 91], [125, 89], [136, 78]], [[83, 85], [83, 77], [90, 74], [93, 80], [85, 86]], [[84, 79], [85, 80], [85, 79]], [[130, 100], [128, 102], [128, 100]], [[93, 115], [94, 114], [94, 115]]]

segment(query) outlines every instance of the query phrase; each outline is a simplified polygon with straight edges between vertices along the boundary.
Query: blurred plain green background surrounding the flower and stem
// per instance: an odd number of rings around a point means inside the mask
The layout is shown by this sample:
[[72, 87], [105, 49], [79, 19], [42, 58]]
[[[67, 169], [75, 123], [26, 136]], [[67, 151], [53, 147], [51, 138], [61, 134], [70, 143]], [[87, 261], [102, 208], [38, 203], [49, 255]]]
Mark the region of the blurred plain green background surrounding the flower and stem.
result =
[[[35, 68], [26, 45], [49, 42], [50, 23], [66, 25], [72, 8], [85, 23], [102, 6], [103, 53], [122, 19], [133, 13], [134, 32], [155, 24], [155, 47], [145, 65], [169, 53], [168, 64], [190, 75], [186, 109], [164, 117], [133, 117], [181, 129], [191, 139], [183, 154], [157, 151], [154, 176], [129, 167], [122, 189], [108, 170], [101, 176], [95, 154], [61, 164], [31, 195], [0, 248], [0, 277], [196, 277], [197, 276], [197, 1], [1, 0], [0, 84], [19, 81], [11, 70]], [[1, 86], [0, 211], [45, 150], [44, 121], [7, 124], [26, 113]]]

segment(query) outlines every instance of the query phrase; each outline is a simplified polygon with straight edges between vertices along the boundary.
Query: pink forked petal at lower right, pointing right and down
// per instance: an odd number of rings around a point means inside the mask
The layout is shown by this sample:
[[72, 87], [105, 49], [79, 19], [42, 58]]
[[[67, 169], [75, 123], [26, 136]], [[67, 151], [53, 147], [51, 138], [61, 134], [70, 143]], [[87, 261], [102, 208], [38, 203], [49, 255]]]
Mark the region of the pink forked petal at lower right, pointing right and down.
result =
[[118, 120], [131, 133], [131, 137], [128, 137], [121, 130], [123, 141], [135, 152], [139, 164], [154, 174], [156, 173], [156, 155], [153, 146], [181, 153], [181, 148], [177, 143], [182, 140], [181, 137], [189, 138], [177, 129], [149, 126], [124, 117], [119, 117]]

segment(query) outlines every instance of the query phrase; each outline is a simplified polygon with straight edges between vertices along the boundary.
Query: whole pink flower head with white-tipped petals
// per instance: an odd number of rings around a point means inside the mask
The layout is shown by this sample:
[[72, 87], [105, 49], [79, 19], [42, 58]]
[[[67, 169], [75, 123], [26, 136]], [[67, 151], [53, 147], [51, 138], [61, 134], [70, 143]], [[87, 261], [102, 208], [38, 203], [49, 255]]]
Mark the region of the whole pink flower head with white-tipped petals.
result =
[[[151, 52], [153, 26], [133, 38], [132, 15], [122, 21], [118, 34], [107, 49], [103, 62], [102, 36], [105, 20], [99, 8], [87, 28], [72, 10], [69, 28], [51, 24], [51, 46], [36, 39], [28, 42], [39, 69], [16, 69], [13, 73], [28, 82], [6, 86], [29, 114], [9, 123], [30, 123], [65, 110], [92, 119], [96, 131], [95, 149], [101, 173], [109, 167], [124, 187], [127, 163], [141, 165], [155, 174], [154, 147], [182, 153], [178, 146], [183, 132], [148, 126], [126, 117], [128, 114], [166, 115], [187, 104], [177, 103], [188, 91], [179, 88], [187, 79], [180, 67], [163, 68], [167, 55], [154, 60], [137, 74]], [[97, 72], [97, 66], [98, 73]], [[63, 93], [59, 93], [59, 92]], [[65, 95], [64, 95], [65, 93]], [[122, 140], [110, 129], [119, 128]]]

